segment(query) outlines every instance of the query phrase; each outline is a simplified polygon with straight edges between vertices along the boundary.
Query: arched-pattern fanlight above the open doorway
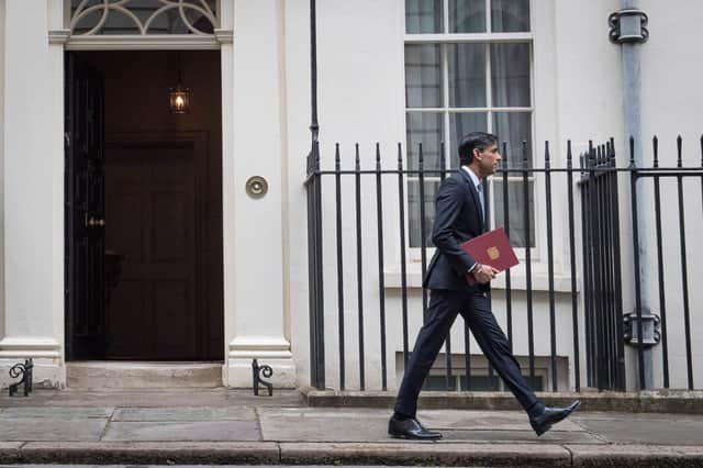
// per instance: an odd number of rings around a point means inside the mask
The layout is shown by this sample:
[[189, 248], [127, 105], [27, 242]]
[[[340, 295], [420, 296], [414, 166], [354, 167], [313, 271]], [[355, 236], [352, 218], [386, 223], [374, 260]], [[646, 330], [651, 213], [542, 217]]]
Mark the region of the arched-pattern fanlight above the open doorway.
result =
[[212, 35], [219, 0], [70, 0], [70, 34]]

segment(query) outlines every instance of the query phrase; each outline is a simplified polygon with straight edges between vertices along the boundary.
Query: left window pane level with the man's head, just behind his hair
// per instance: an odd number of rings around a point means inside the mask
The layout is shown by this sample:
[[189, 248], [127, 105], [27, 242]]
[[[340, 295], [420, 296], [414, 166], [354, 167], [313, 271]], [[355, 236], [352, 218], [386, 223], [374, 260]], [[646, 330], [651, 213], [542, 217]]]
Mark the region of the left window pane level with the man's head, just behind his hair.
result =
[[417, 169], [420, 144], [425, 169], [439, 169], [444, 119], [438, 112], [408, 112], [408, 167]]

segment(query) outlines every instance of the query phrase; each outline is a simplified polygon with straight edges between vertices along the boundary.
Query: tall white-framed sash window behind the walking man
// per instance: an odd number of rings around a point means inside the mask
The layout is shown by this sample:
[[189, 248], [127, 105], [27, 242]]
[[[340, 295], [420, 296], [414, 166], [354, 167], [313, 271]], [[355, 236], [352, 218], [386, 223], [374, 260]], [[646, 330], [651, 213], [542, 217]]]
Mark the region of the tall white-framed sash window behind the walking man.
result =
[[[523, 141], [532, 166], [532, 32], [529, 0], [405, 0], [405, 126], [408, 165], [425, 170], [458, 167], [457, 142], [473, 131], [506, 142], [510, 167], [523, 167]], [[502, 145], [501, 145], [502, 146]], [[425, 177], [425, 235], [434, 220], [439, 178]], [[534, 246], [534, 182], [527, 209]], [[525, 247], [522, 176], [509, 178], [510, 234]], [[505, 225], [502, 180], [493, 178], [493, 225]], [[410, 246], [421, 247], [420, 188], [408, 187]], [[431, 241], [426, 241], [431, 245]]]

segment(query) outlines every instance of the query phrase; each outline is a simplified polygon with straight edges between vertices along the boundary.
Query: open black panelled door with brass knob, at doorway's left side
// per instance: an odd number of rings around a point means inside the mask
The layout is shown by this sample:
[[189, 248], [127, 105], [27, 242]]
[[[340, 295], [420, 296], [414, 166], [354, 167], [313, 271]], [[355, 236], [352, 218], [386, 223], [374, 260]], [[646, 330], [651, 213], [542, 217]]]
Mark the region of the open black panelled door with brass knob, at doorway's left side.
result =
[[66, 54], [66, 358], [103, 358], [103, 77]]

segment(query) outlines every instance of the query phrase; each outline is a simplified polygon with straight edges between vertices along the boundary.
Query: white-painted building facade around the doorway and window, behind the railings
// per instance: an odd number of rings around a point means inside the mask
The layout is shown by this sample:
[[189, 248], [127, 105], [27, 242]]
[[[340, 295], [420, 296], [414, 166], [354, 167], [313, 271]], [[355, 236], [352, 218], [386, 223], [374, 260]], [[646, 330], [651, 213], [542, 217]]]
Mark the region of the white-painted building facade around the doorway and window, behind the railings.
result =
[[[669, 2], [670, 3], [670, 2]], [[700, 161], [699, 115], [703, 93], [699, 89], [701, 52], [696, 24], [703, 9], [692, 2], [674, 0], [662, 5], [643, 1], [649, 14], [649, 42], [643, 46], [643, 130], [661, 137], [662, 164], [674, 163], [673, 138], [684, 138], [684, 164]], [[47, 42], [47, 2], [0, 0], [0, 160], [2, 160], [2, 230], [4, 288], [0, 358], [9, 363], [27, 352], [48, 358], [58, 380], [59, 348], [63, 345], [63, 54], [60, 45]], [[230, 24], [234, 22], [232, 46], [223, 46], [223, 113], [231, 125], [224, 130], [223, 163], [225, 223], [225, 343], [230, 364], [225, 366], [230, 385], [248, 382], [252, 357], [270, 358], [281, 365], [278, 375], [288, 378], [297, 369], [297, 382], [309, 379], [308, 249], [306, 207], [303, 181], [304, 157], [310, 149], [310, 36], [306, 0], [237, 0], [226, 3]], [[616, 138], [620, 164], [626, 161], [622, 141], [622, 66], [620, 46], [607, 37], [607, 15], [620, 1], [583, 3], [578, 0], [533, 2], [535, 155], [542, 157], [543, 142], [553, 144], [555, 165], [566, 161], [563, 138], [574, 143], [574, 155], [589, 138]], [[52, 25], [51, 27], [56, 27]], [[379, 142], [383, 167], [394, 167], [395, 144], [404, 144], [403, 1], [359, 0], [341, 3], [317, 1], [317, 58], [321, 149], [323, 168], [334, 167], [334, 143], [342, 144], [343, 167], [353, 167], [354, 143], [361, 144], [361, 166], [375, 167], [373, 144]], [[4, 46], [4, 47], [3, 47]], [[4, 57], [1, 54], [4, 53]], [[2, 59], [3, 58], [3, 59]], [[4, 64], [12, 64], [11, 67]], [[225, 73], [227, 69], [231, 73]], [[4, 87], [4, 88], [2, 88]], [[4, 99], [4, 101], [3, 101]], [[38, 124], [37, 124], [38, 123]], [[647, 153], [646, 153], [647, 154]], [[539, 160], [539, 159], [536, 159]], [[540, 166], [542, 163], [537, 164]], [[248, 177], [264, 176], [268, 194], [249, 198], [244, 185]], [[32, 180], [27, 197], [26, 181]], [[336, 244], [334, 186], [325, 179], [324, 229], [325, 339], [327, 385], [338, 387], [333, 376], [338, 369]], [[538, 182], [540, 180], [538, 179]], [[698, 183], [698, 182], [696, 182]], [[626, 185], [623, 183], [626, 188]], [[345, 185], [345, 189], [352, 189]], [[701, 229], [700, 186], [687, 183], [687, 226]], [[666, 197], [676, 197], [676, 187], [662, 187]], [[402, 350], [401, 301], [398, 289], [400, 248], [398, 242], [397, 179], [383, 177], [384, 271], [387, 281], [386, 327], [388, 387], [395, 386], [395, 354]], [[378, 288], [378, 245], [376, 237], [376, 187], [365, 177], [362, 187], [365, 368], [367, 388], [381, 386], [380, 320]], [[356, 229], [354, 199], [343, 199], [343, 231]], [[622, 200], [624, 261], [627, 258], [628, 215]], [[545, 211], [537, 207], [540, 244], [537, 259], [546, 250]], [[678, 259], [678, 214], [665, 215], [667, 255]], [[566, 223], [566, 201], [556, 197], [555, 222]], [[577, 214], [578, 215], [578, 214]], [[47, 233], [49, 233], [47, 235]], [[228, 233], [228, 234], [227, 234]], [[344, 252], [344, 309], [346, 324], [347, 388], [358, 388], [356, 300], [356, 245], [346, 237]], [[689, 302], [701, 302], [694, 288], [701, 277], [703, 253], [695, 238], [689, 248]], [[655, 245], [650, 242], [650, 245]], [[568, 244], [555, 239], [555, 252], [566, 257]], [[568, 261], [557, 258], [562, 285], [568, 285]], [[410, 292], [410, 345], [420, 326], [420, 289]], [[542, 268], [542, 269], [540, 269]], [[535, 266], [544, 274], [544, 263]], [[580, 270], [580, 268], [579, 268]], [[667, 265], [667, 288], [681, 287], [680, 265]], [[580, 276], [579, 271], [579, 276]], [[540, 279], [544, 285], [544, 276]], [[632, 271], [623, 271], [623, 287], [631, 291], [625, 312], [633, 309]], [[563, 288], [561, 288], [563, 289]], [[658, 303], [652, 291], [652, 303]], [[502, 290], [495, 291], [494, 310], [505, 325]], [[513, 305], [514, 348], [527, 353], [523, 294], [516, 292]], [[667, 302], [670, 331], [682, 321], [682, 302], [672, 296]], [[548, 327], [547, 294], [534, 298], [535, 330]], [[572, 358], [571, 310], [568, 291], [557, 293], [557, 353]], [[692, 316], [692, 333], [700, 335], [703, 321]], [[679, 327], [680, 328], [680, 327]], [[583, 324], [581, 323], [581, 332]], [[698, 332], [698, 333], [696, 333]], [[672, 385], [685, 383], [683, 337], [673, 332], [670, 342]], [[462, 331], [453, 331], [454, 350], [461, 352]], [[477, 349], [471, 342], [472, 352]], [[660, 347], [657, 348], [660, 356]], [[549, 354], [548, 335], [535, 335], [535, 350]], [[292, 352], [292, 357], [291, 357]], [[581, 339], [581, 356], [584, 347]], [[701, 346], [694, 342], [694, 361], [702, 366]], [[8, 360], [9, 359], [9, 360]], [[276, 361], [276, 359], [281, 359]], [[292, 363], [294, 361], [294, 366]], [[268, 364], [268, 363], [267, 363]], [[656, 365], [659, 366], [660, 357]], [[572, 368], [571, 368], [572, 369]], [[276, 367], [275, 367], [276, 370]], [[703, 369], [696, 368], [701, 375]], [[0, 369], [1, 371], [1, 369]], [[238, 377], [237, 376], [238, 374]], [[246, 377], [245, 374], [246, 372]], [[572, 376], [572, 370], [570, 370]], [[7, 372], [3, 372], [7, 375]], [[582, 376], [583, 376], [582, 369]], [[52, 380], [53, 379], [53, 380]], [[582, 379], [583, 381], [583, 379]], [[571, 379], [572, 382], [572, 379]], [[631, 386], [632, 386], [631, 379]]]

